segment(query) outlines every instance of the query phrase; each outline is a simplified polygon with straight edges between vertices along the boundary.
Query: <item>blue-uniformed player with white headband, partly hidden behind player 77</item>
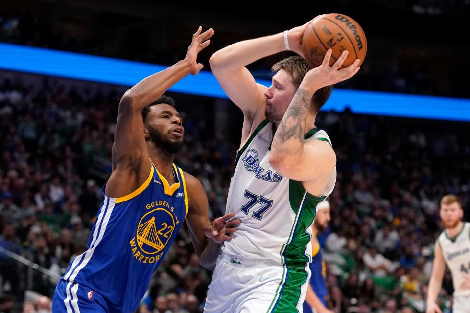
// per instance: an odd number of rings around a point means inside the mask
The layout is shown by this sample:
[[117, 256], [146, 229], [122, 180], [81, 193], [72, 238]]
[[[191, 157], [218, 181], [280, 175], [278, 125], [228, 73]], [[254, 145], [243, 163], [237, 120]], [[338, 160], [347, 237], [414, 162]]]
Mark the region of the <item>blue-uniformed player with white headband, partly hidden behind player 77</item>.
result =
[[[325, 231], [331, 220], [329, 202], [324, 200], [317, 205], [317, 215], [312, 224], [312, 262], [310, 263], [310, 281], [304, 302], [304, 313], [333, 313], [327, 309], [328, 296], [325, 261], [322, 258], [322, 248], [318, 242], [317, 235]], [[312, 311], [312, 309], [314, 311]]]

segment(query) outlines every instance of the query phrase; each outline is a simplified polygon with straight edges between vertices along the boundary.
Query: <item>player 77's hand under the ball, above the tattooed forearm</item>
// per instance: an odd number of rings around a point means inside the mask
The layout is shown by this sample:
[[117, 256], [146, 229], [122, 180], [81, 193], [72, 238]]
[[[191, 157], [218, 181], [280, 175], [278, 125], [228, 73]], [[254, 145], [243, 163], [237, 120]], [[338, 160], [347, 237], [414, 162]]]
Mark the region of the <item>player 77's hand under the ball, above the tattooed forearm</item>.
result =
[[[360, 60], [355, 60], [350, 66], [339, 69], [348, 56], [348, 51], [344, 51], [338, 60], [329, 66], [331, 49], [327, 51], [323, 63], [319, 67], [309, 70], [302, 81], [302, 88], [320, 89], [325, 86], [333, 85], [354, 76], [360, 69], [358, 66]], [[314, 90], [314, 91], [315, 91]]]

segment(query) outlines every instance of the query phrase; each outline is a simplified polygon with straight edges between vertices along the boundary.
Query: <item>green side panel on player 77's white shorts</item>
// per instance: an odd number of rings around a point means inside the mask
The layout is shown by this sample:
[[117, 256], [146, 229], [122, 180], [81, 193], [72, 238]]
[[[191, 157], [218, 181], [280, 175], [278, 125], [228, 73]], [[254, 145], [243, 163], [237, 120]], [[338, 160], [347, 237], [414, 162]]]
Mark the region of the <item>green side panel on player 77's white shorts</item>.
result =
[[[281, 291], [276, 292], [274, 300], [267, 312], [286, 313], [299, 312], [297, 304], [302, 293], [302, 285], [307, 282], [308, 273], [304, 268], [287, 267], [285, 282], [282, 284]], [[271, 311], [270, 311], [271, 310]]]

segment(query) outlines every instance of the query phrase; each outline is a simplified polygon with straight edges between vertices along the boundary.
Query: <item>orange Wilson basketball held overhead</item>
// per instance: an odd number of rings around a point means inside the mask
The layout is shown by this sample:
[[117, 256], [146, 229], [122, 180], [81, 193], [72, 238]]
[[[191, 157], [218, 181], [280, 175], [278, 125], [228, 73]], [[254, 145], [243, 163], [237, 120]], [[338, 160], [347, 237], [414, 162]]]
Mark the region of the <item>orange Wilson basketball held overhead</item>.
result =
[[[311, 22], [302, 40], [305, 60], [311, 67], [323, 62], [325, 53], [332, 49], [329, 65], [333, 65], [343, 51], [349, 54], [342, 67], [352, 64], [355, 59], [364, 61], [367, 41], [361, 26], [349, 16], [330, 13]], [[341, 68], [342, 68], [341, 67]]]

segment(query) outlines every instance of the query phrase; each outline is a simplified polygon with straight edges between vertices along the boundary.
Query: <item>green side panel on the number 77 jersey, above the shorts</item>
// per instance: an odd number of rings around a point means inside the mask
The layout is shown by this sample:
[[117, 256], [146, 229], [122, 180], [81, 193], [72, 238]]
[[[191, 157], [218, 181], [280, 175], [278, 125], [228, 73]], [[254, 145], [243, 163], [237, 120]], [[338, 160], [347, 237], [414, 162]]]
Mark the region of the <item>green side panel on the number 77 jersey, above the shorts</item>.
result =
[[289, 202], [296, 218], [287, 243], [282, 246], [283, 263], [310, 262], [311, 256], [305, 254], [305, 247], [311, 240], [306, 229], [310, 227], [317, 214], [317, 204], [327, 196], [316, 197], [308, 193], [301, 181], [289, 180]]

